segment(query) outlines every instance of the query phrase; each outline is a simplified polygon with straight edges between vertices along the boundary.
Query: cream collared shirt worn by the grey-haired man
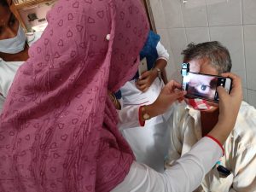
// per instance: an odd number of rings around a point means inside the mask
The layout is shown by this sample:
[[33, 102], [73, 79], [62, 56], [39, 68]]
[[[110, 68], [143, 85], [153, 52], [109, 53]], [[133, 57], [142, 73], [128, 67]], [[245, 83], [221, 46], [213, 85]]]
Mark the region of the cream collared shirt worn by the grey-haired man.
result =
[[[183, 102], [177, 104], [173, 113], [171, 145], [166, 167], [172, 166], [201, 139], [201, 113], [188, 108]], [[235, 129], [224, 143], [221, 165], [231, 171], [224, 177], [214, 166], [196, 191], [256, 191], [256, 109], [241, 103]]]

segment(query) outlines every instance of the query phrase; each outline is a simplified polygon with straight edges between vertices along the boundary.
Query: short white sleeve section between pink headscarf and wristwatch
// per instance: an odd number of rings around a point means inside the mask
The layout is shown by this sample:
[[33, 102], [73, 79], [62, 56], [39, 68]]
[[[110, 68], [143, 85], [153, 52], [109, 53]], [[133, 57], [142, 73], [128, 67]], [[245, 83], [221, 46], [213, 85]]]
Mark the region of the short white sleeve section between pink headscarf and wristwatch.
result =
[[131, 105], [124, 108], [122, 107], [121, 110], [117, 111], [119, 114], [119, 130], [140, 126], [138, 119], [138, 109], [138, 105]]

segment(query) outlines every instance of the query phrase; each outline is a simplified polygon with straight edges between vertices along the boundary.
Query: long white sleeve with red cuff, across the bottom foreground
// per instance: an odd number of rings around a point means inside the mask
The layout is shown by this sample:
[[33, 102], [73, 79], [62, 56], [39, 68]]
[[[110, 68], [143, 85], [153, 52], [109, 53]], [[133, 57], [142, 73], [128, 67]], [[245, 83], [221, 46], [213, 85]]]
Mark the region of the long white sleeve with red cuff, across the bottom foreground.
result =
[[190, 192], [196, 189], [202, 178], [222, 155], [218, 143], [208, 137], [202, 138], [164, 173], [133, 162], [130, 172], [112, 192]]

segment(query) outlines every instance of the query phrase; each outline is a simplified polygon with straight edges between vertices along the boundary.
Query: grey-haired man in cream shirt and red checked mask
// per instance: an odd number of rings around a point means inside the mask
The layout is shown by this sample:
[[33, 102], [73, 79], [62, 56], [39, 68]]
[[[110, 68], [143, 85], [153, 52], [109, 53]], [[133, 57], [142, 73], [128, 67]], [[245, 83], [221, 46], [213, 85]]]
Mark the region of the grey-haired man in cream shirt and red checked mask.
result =
[[[228, 73], [232, 64], [228, 49], [216, 41], [189, 44], [183, 52], [183, 61], [190, 71], [220, 75]], [[195, 79], [196, 81], [196, 79]], [[166, 167], [208, 134], [217, 124], [219, 108], [201, 99], [185, 99], [173, 107], [171, 145]], [[224, 155], [202, 180], [195, 191], [253, 192], [256, 190], [256, 109], [241, 103], [235, 129], [223, 145]]]

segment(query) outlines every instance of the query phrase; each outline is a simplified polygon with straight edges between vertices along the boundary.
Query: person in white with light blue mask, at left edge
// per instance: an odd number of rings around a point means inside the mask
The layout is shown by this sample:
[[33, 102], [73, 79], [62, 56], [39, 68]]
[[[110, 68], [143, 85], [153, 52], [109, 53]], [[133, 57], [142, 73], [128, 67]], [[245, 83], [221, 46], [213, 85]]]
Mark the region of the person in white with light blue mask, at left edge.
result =
[[[19, 20], [9, 9], [5, 0], [0, 0], [0, 112], [8, 90], [20, 65], [28, 59], [28, 48], [41, 32], [26, 35]], [[32, 36], [31, 36], [32, 35]], [[32, 37], [32, 38], [28, 38]]]

